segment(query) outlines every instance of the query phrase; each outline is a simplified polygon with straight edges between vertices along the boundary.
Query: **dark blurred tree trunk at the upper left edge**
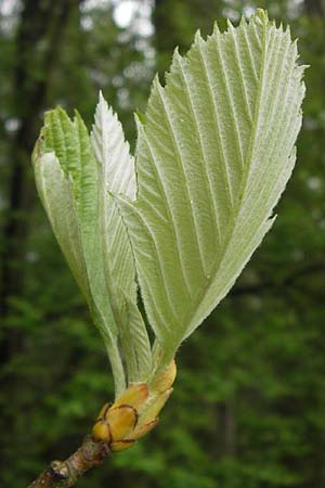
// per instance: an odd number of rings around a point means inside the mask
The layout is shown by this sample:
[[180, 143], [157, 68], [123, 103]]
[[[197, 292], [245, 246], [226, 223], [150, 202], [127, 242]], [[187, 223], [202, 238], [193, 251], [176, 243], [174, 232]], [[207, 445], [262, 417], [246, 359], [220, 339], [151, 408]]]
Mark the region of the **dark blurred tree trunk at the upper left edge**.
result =
[[11, 297], [22, 290], [24, 241], [28, 233], [28, 209], [34, 200], [29, 160], [44, 108], [51, 68], [58, 56], [60, 41], [75, 0], [52, 2], [25, 0], [16, 35], [16, 66], [13, 75], [13, 116], [20, 121], [13, 138], [8, 211], [3, 224], [1, 255], [1, 313], [5, 318]]

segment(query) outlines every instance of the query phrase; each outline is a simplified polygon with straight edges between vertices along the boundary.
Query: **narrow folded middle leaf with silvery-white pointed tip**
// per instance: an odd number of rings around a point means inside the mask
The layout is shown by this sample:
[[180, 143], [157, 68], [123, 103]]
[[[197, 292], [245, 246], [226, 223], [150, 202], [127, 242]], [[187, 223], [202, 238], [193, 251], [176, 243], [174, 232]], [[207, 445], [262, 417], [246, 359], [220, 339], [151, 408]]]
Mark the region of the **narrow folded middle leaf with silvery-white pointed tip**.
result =
[[106, 281], [113, 297], [116, 322], [120, 329], [128, 381], [139, 382], [145, 380], [150, 373], [151, 345], [136, 306], [135, 266], [131, 243], [113, 196], [114, 193], [130, 200], [135, 198], [134, 162], [130, 156], [129, 144], [125, 142], [121, 125], [102, 93], [95, 112], [91, 143], [99, 162]]

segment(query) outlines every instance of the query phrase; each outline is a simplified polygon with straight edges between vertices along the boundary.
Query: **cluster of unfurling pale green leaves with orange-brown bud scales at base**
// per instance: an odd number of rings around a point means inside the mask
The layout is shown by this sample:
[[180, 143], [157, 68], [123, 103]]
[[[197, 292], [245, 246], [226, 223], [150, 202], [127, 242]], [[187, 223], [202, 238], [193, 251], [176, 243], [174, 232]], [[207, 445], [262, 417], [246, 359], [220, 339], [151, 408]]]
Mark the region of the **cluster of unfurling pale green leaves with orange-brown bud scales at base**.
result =
[[207, 40], [197, 34], [166, 85], [154, 80], [135, 160], [102, 94], [90, 136], [78, 114], [46, 114], [37, 187], [113, 365], [116, 401], [94, 426], [113, 450], [156, 425], [178, 347], [274, 221], [301, 125], [297, 59], [289, 29], [261, 10]]

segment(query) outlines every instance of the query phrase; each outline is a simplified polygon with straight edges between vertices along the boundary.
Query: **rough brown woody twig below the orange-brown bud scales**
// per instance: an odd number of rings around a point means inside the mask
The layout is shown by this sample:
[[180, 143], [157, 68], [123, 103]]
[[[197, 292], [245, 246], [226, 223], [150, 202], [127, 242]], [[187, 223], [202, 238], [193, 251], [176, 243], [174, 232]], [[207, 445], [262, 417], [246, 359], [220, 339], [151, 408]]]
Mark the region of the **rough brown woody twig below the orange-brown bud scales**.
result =
[[52, 461], [51, 465], [27, 488], [68, 488], [90, 467], [102, 464], [110, 454], [108, 446], [84, 437], [80, 448], [66, 461]]

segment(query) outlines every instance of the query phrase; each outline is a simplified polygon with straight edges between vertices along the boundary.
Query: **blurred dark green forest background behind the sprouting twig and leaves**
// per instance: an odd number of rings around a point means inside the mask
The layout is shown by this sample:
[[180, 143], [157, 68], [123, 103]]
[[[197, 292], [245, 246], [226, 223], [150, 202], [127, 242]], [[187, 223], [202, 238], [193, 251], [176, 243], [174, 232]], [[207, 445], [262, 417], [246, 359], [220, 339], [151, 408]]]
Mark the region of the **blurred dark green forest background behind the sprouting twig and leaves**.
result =
[[[0, 485], [24, 487], [89, 432], [113, 383], [101, 338], [36, 195], [42, 113], [101, 88], [134, 145], [133, 111], [195, 30], [255, 0], [0, 0]], [[325, 487], [325, 3], [261, 0], [299, 37], [297, 167], [272, 232], [182, 347], [158, 428], [80, 488]]]

